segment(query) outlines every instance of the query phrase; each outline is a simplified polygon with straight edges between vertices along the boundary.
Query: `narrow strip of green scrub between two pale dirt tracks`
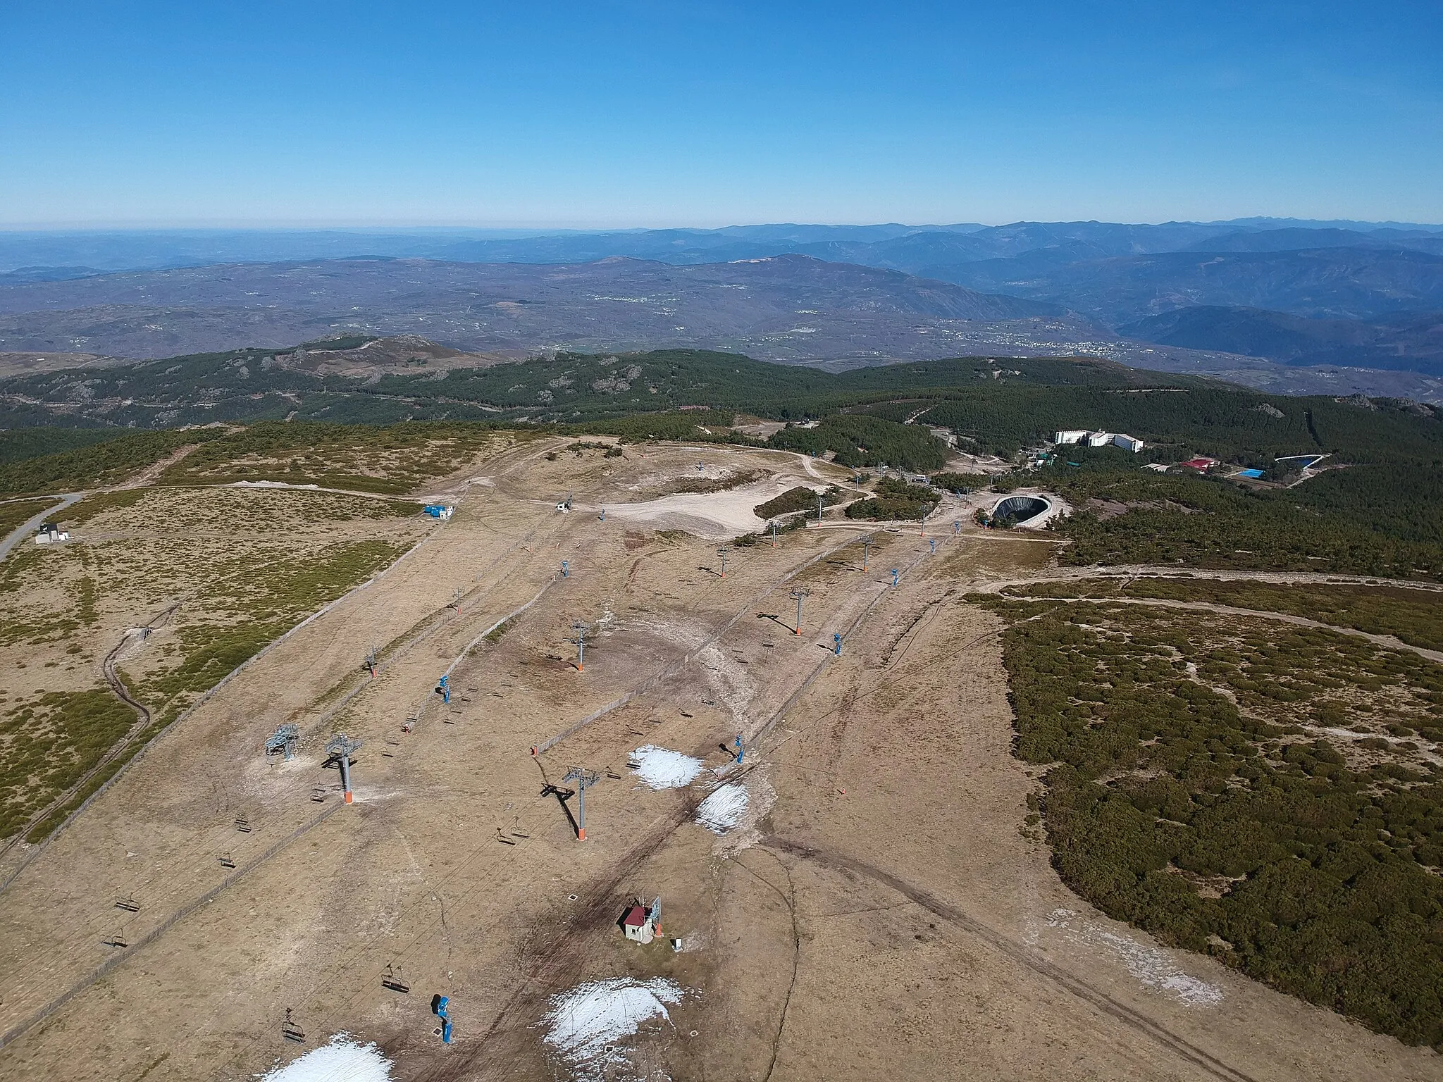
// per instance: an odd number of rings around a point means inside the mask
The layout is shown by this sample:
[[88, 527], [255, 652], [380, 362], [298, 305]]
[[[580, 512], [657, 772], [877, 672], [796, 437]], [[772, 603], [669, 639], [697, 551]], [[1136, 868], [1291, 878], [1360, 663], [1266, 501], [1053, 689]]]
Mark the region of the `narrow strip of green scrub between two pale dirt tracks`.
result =
[[1144, 576], [1035, 583], [1012, 587], [1007, 593], [1025, 597], [1159, 597], [1284, 612], [1371, 635], [1392, 635], [1410, 646], [1443, 651], [1443, 593], [1433, 590]]

